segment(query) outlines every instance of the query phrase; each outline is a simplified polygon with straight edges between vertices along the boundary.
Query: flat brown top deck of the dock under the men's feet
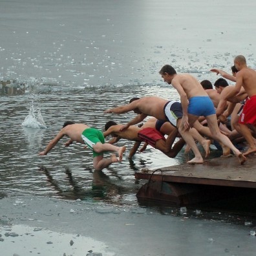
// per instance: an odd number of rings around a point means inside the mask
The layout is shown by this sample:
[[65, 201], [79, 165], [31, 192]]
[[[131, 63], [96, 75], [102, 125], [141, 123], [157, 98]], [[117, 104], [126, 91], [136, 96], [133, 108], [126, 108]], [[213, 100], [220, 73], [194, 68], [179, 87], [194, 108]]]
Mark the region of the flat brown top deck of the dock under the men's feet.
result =
[[[186, 184], [256, 188], [256, 156], [248, 156], [240, 165], [235, 156], [213, 158], [204, 164], [180, 164], [163, 167], [161, 171], [139, 171], [135, 178]], [[155, 173], [152, 175], [153, 171]], [[152, 175], [152, 176], [151, 176]]]

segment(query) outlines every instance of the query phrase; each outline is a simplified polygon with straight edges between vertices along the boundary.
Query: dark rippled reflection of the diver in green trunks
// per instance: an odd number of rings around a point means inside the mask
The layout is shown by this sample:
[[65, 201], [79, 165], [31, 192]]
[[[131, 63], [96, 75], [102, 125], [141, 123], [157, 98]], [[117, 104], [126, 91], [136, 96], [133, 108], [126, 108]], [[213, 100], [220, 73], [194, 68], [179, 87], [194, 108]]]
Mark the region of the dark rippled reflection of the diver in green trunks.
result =
[[[88, 200], [88, 199], [103, 199], [108, 202], [114, 200], [115, 204], [119, 199], [122, 198], [122, 194], [125, 191], [125, 188], [114, 184], [113, 180], [109, 176], [105, 175], [103, 171], [93, 171], [92, 173], [92, 187], [85, 188], [80, 184], [76, 178], [72, 176], [72, 171], [65, 167], [65, 173], [69, 181], [69, 189], [62, 189], [58, 181], [50, 174], [50, 171], [45, 166], [39, 167], [39, 171], [43, 171], [47, 176], [47, 181], [50, 183], [54, 191], [57, 191], [59, 197], [70, 199], [70, 200]], [[112, 176], [116, 176], [118, 180], [122, 178], [118, 176], [114, 171], [111, 171]], [[70, 189], [70, 186], [72, 189]]]

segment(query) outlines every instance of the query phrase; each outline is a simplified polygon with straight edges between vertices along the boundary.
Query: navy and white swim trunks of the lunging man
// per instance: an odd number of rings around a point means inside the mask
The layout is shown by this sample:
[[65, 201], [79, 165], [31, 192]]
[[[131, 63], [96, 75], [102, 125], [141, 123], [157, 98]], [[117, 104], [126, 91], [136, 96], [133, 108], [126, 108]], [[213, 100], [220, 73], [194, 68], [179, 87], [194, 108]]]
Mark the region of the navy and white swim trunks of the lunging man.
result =
[[174, 126], [177, 126], [178, 118], [182, 118], [182, 105], [178, 101], [168, 101], [164, 106], [164, 113], [166, 119]]

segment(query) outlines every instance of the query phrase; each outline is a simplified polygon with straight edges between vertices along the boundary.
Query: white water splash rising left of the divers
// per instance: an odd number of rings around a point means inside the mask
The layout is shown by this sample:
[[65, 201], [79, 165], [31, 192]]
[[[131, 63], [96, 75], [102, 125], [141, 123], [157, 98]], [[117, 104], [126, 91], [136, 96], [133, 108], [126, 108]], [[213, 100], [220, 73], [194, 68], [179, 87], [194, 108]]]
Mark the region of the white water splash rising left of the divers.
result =
[[28, 116], [26, 116], [23, 123], [21, 123], [21, 126], [27, 128], [47, 128], [43, 116], [41, 115], [40, 107], [35, 106], [33, 100], [30, 105]]

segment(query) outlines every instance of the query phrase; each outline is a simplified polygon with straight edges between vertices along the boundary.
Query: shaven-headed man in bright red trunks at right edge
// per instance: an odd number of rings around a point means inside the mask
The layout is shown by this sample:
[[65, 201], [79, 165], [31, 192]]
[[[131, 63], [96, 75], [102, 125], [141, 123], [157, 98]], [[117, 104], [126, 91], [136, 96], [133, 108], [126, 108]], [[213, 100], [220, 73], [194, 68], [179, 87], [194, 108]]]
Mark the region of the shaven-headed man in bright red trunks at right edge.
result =
[[250, 155], [251, 153], [256, 152], [256, 146], [253, 142], [253, 136], [251, 135], [251, 131], [256, 133], [256, 72], [247, 67], [246, 58], [242, 55], [235, 57], [234, 64], [239, 72], [236, 74], [235, 87], [233, 87], [233, 90], [227, 94], [227, 98], [239, 94], [242, 87], [249, 96], [249, 100], [246, 101], [242, 114], [240, 115], [239, 125], [240, 133], [249, 144], [249, 148], [244, 154]]

